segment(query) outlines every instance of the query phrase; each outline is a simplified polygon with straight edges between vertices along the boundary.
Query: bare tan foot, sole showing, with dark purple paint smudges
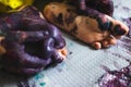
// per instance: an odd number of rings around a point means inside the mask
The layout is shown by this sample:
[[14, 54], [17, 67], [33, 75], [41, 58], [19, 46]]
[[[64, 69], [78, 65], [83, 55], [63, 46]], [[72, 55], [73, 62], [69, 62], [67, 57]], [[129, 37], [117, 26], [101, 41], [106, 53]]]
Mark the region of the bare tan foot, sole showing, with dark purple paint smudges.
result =
[[44, 9], [50, 23], [62, 28], [95, 49], [116, 45], [117, 39], [128, 34], [129, 28], [121, 22], [93, 9], [79, 15], [74, 7], [52, 2]]

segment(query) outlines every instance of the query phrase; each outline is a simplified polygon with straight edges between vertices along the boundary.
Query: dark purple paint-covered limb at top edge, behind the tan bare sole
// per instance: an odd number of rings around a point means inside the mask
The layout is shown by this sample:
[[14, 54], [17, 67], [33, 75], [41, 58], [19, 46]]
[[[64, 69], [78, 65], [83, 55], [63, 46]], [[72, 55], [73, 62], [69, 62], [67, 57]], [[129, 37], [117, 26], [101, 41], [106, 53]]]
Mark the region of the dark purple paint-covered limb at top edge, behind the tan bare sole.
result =
[[67, 3], [76, 7], [78, 10], [83, 11], [86, 9], [86, 7], [90, 7], [110, 16], [114, 12], [112, 0], [68, 0]]

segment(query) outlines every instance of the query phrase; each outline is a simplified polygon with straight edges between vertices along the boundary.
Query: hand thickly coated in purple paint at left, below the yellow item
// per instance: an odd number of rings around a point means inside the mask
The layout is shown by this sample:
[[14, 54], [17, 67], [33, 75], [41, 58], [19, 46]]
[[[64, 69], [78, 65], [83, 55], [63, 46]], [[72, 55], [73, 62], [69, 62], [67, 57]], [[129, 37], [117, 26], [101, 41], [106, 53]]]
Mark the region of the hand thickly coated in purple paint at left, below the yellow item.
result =
[[[0, 17], [5, 39], [1, 45], [7, 52], [1, 57], [3, 69], [22, 75], [33, 75], [63, 58], [57, 50], [66, 46], [58, 28], [45, 21], [34, 7]], [[3, 23], [4, 26], [3, 27]], [[9, 26], [10, 25], [10, 26]]]

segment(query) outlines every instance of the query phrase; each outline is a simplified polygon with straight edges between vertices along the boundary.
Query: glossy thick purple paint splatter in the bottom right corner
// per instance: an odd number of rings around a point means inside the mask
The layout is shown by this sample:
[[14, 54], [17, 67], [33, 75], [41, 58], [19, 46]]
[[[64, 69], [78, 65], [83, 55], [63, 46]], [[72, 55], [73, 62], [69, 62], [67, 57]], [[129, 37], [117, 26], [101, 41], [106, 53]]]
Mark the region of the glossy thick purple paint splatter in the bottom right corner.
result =
[[107, 72], [98, 79], [99, 87], [131, 87], [131, 62], [121, 70], [110, 71], [107, 66], [103, 69]]

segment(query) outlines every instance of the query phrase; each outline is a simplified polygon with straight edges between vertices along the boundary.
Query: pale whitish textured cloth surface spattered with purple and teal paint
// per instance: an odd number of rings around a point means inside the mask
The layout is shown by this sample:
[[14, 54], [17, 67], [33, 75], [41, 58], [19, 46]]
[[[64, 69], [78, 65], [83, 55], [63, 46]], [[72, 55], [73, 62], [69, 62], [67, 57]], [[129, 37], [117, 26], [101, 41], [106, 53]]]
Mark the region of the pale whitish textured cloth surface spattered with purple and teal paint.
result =
[[[131, 17], [131, 0], [114, 0], [114, 17], [124, 21]], [[126, 21], [124, 21], [126, 23]], [[66, 61], [24, 78], [0, 72], [0, 87], [98, 87], [98, 78], [106, 73], [104, 67], [119, 70], [131, 60], [131, 35], [122, 37], [116, 46], [93, 50], [63, 33], [69, 51]]]

